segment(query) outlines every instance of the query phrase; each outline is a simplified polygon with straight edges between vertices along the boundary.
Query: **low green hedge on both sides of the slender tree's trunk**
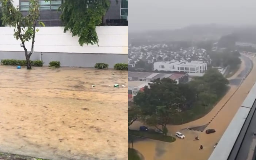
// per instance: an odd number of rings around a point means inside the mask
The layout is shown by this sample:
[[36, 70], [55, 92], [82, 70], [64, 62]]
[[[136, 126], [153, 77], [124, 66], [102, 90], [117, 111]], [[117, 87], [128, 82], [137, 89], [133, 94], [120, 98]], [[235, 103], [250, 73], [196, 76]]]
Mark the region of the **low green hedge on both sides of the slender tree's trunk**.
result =
[[[5, 59], [5, 60], [1, 60], [1, 63], [3, 65], [8, 65], [8, 66], [27, 66], [26, 60]], [[34, 67], [42, 67], [44, 64], [42, 60], [30, 60], [30, 63], [31, 63], [31, 66], [34, 66]]]

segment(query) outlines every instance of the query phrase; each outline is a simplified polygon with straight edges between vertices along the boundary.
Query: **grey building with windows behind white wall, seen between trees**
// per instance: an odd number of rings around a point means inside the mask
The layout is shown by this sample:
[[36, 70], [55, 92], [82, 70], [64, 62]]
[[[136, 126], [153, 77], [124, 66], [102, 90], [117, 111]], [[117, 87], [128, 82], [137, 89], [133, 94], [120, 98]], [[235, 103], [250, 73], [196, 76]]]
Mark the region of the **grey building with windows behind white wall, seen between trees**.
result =
[[[46, 27], [59, 27], [60, 11], [58, 8], [63, 0], [51, 0], [45, 2], [40, 1], [40, 17]], [[29, 0], [13, 0], [15, 6], [20, 8], [20, 11], [25, 16], [28, 14]], [[127, 26], [128, 25], [128, 0], [110, 0], [110, 8], [103, 18], [103, 25], [107, 26]]]

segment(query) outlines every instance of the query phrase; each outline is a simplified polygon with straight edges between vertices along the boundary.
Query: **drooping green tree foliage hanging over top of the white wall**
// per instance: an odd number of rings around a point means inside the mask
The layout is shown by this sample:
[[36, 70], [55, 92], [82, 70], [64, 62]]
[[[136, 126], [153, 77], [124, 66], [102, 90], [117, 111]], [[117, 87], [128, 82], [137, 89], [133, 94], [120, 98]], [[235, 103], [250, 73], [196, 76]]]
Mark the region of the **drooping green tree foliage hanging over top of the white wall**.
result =
[[109, 0], [65, 0], [60, 6], [60, 19], [64, 33], [68, 30], [72, 36], [79, 36], [79, 44], [98, 44], [96, 26], [110, 7]]

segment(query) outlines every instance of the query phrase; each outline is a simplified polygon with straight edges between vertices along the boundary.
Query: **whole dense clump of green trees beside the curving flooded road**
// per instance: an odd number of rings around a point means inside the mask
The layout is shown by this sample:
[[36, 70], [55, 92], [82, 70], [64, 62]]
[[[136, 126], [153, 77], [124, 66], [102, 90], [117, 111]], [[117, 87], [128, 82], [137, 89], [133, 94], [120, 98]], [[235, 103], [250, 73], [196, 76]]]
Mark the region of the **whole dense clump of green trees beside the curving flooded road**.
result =
[[144, 122], [161, 126], [166, 135], [167, 124], [186, 123], [210, 111], [226, 93], [228, 83], [217, 69], [207, 70], [204, 76], [188, 84], [176, 84], [169, 78], [157, 79], [134, 97], [134, 103]]

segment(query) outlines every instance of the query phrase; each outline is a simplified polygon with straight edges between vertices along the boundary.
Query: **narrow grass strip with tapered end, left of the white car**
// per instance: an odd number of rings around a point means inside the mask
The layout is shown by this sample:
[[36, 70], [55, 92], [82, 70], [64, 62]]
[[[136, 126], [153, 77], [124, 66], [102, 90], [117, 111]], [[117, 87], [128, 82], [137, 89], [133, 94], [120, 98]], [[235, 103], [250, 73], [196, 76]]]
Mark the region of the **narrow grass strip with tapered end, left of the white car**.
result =
[[153, 140], [160, 140], [160, 141], [164, 141], [164, 142], [174, 142], [176, 140], [175, 137], [172, 136], [163, 136], [161, 133], [157, 133], [157, 132], [141, 132], [141, 131], [137, 131], [137, 130], [129, 130], [128, 134], [130, 135], [134, 135], [134, 136], [140, 136], [140, 137], [145, 137], [145, 138], [150, 138]]

